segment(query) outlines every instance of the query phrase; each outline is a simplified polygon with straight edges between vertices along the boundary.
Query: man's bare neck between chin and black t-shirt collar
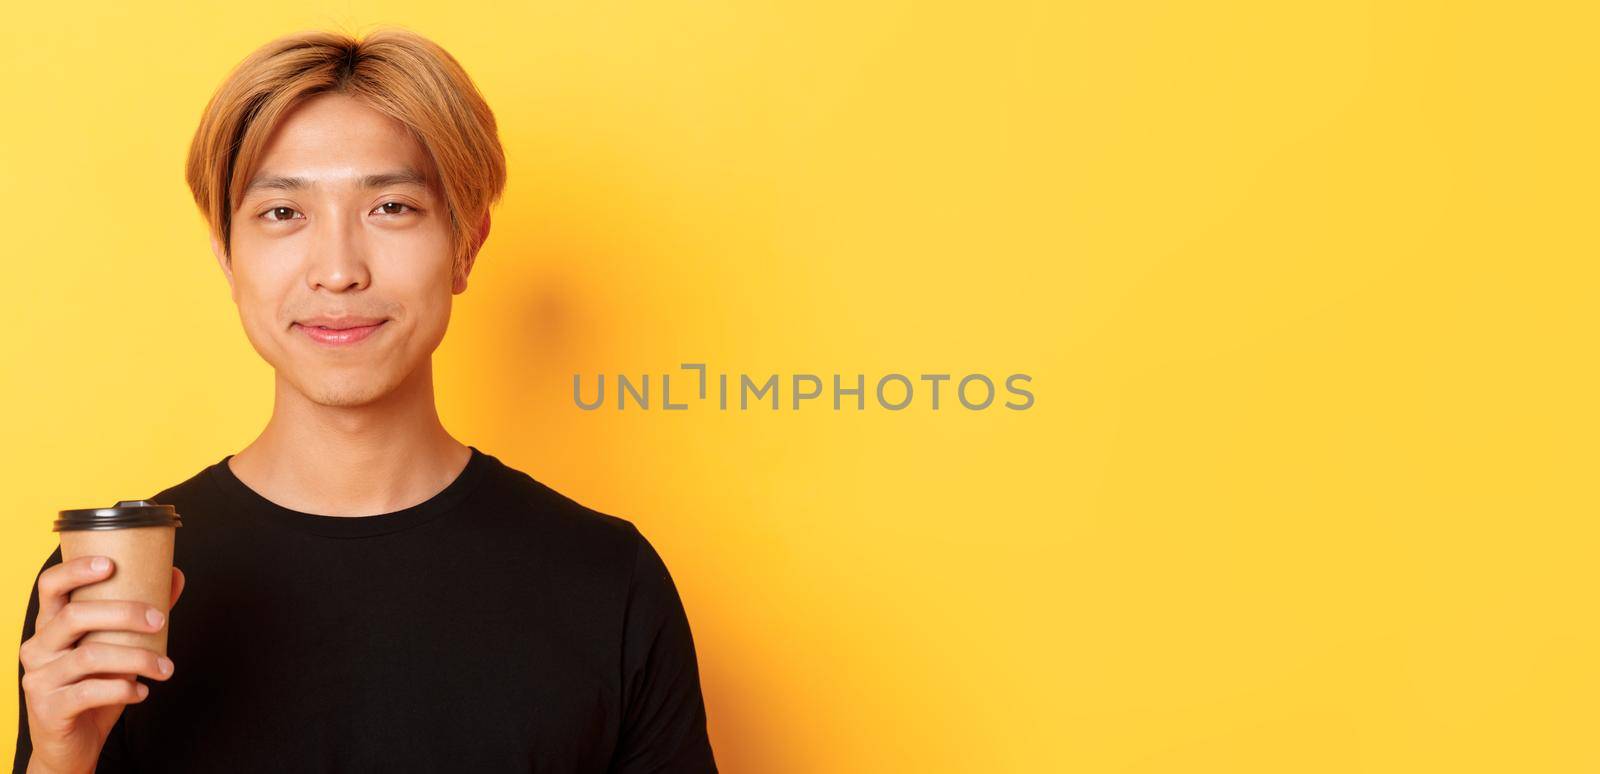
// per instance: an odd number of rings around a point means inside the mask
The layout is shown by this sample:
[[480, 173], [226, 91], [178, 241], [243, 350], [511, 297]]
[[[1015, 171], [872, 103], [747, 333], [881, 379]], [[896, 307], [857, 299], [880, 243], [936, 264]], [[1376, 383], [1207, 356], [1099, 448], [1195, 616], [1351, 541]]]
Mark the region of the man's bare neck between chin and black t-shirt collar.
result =
[[278, 376], [272, 419], [229, 467], [286, 509], [368, 517], [438, 494], [470, 454], [438, 421], [432, 363], [424, 361], [387, 395], [357, 406], [315, 403]]

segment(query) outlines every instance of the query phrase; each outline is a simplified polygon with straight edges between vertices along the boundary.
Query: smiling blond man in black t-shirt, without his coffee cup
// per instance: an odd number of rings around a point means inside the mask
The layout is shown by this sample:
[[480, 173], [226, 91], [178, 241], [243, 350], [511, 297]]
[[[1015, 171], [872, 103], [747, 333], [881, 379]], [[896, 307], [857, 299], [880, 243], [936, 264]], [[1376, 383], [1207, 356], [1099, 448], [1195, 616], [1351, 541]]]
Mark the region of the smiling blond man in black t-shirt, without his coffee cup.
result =
[[187, 179], [272, 419], [150, 497], [184, 521], [170, 659], [80, 643], [166, 622], [69, 603], [115, 566], [45, 561], [16, 771], [717, 771], [651, 544], [435, 411], [506, 179], [459, 64], [405, 30], [272, 42], [211, 99]]

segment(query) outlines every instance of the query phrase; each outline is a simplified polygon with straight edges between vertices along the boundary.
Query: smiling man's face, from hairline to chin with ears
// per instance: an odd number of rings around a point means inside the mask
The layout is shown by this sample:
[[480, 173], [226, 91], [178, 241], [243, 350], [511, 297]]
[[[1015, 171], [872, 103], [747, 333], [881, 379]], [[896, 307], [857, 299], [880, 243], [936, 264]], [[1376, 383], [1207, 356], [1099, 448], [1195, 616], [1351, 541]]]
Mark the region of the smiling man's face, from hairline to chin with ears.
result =
[[427, 152], [346, 94], [314, 96], [274, 130], [232, 248], [224, 261], [213, 245], [250, 344], [325, 406], [371, 403], [419, 373], [466, 289]]

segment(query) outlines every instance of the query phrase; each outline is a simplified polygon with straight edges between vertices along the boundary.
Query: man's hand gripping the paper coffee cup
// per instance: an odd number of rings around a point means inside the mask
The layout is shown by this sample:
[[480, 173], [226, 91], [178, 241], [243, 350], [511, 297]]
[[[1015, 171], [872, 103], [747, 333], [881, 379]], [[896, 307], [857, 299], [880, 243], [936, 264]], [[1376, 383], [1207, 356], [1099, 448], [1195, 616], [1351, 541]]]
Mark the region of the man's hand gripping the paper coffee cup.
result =
[[[96, 569], [94, 563], [104, 563]], [[160, 611], [138, 601], [69, 601], [72, 590], [110, 577], [109, 557], [78, 557], [38, 576], [38, 619], [22, 643], [22, 692], [27, 729], [34, 740], [32, 772], [93, 772], [101, 747], [122, 708], [141, 702], [149, 686], [138, 675], [166, 680], [173, 662], [146, 648], [78, 643], [88, 632], [160, 632]], [[173, 568], [173, 604], [184, 592], [184, 574]]]

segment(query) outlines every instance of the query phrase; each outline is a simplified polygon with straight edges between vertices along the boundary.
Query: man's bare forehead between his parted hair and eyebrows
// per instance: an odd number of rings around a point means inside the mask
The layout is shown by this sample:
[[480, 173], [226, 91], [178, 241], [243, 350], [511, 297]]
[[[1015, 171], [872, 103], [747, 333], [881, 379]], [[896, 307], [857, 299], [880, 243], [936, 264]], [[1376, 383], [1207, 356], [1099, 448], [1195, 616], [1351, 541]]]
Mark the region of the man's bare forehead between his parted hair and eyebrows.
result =
[[347, 94], [317, 94], [283, 117], [254, 165], [253, 179], [304, 178], [314, 184], [357, 182], [398, 168], [434, 178], [434, 165], [400, 122]]

